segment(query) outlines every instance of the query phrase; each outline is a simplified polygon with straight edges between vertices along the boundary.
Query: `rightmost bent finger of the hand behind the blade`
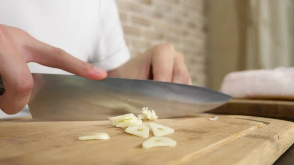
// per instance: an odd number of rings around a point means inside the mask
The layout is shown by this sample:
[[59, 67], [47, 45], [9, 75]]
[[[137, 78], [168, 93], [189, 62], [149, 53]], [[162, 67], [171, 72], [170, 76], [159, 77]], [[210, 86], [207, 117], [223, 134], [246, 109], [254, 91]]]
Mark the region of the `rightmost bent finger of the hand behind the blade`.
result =
[[189, 84], [190, 80], [191, 78], [185, 65], [184, 56], [181, 53], [177, 53], [173, 62], [172, 82]]

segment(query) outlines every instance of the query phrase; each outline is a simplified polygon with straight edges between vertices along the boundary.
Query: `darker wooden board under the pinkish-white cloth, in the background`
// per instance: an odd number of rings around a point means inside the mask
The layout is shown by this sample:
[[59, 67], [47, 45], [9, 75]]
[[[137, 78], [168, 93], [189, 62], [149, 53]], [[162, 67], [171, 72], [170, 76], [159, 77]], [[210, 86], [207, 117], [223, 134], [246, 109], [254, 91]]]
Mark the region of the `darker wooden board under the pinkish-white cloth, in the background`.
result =
[[232, 99], [209, 111], [214, 114], [247, 115], [294, 121], [294, 101]]

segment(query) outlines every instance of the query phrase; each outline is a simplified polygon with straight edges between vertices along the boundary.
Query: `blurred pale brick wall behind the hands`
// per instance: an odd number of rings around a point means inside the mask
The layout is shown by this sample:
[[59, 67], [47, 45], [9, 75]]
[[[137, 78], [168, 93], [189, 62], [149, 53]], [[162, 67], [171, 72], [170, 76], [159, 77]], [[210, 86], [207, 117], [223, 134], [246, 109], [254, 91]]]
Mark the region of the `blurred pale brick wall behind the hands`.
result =
[[185, 55], [193, 84], [206, 86], [204, 0], [116, 1], [132, 56], [171, 43]]

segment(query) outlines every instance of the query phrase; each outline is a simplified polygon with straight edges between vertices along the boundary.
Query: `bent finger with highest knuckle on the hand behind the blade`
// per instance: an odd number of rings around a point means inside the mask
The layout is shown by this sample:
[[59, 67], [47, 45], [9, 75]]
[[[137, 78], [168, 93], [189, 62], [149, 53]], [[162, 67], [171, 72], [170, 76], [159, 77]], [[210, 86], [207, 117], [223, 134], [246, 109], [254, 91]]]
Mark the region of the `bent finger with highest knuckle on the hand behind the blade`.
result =
[[152, 54], [152, 73], [155, 81], [172, 81], [172, 66], [175, 51], [170, 44], [155, 48]]

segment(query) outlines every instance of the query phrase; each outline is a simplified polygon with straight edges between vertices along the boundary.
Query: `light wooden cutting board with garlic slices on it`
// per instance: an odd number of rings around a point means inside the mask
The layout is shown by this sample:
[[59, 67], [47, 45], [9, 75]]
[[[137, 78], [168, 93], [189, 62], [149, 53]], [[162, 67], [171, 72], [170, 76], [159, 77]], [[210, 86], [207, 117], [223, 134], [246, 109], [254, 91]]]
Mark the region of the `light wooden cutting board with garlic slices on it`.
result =
[[[294, 143], [290, 121], [221, 115], [158, 119], [175, 147], [143, 149], [140, 138], [108, 121], [0, 121], [0, 165], [271, 165]], [[105, 132], [104, 141], [78, 141]], [[151, 137], [152, 135], [149, 135]]]

